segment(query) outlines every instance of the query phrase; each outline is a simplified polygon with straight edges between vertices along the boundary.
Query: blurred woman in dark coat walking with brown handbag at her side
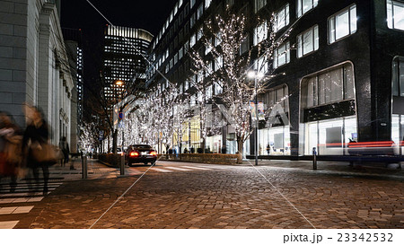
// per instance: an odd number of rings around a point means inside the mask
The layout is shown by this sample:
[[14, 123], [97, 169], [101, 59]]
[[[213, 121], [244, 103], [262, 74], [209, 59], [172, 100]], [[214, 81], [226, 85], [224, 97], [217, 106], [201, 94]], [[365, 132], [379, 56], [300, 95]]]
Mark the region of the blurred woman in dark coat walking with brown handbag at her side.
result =
[[34, 107], [27, 106], [25, 109], [26, 117], [28, 118], [27, 128], [25, 129], [22, 138], [22, 153], [26, 153], [27, 167], [33, 173], [37, 183], [40, 182], [39, 168], [43, 173], [43, 194], [48, 194], [48, 179], [50, 164], [54, 164], [56, 158], [49, 156], [51, 153], [48, 132], [48, 124], [40, 113], [40, 110]]

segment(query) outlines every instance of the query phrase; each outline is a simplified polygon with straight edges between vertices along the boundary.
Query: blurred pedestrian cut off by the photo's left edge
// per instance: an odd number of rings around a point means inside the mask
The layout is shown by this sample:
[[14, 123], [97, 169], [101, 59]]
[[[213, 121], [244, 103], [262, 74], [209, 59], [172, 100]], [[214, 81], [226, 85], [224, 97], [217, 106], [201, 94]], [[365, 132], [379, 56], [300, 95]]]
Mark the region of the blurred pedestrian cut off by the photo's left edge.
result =
[[0, 179], [10, 177], [10, 192], [17, 185], [17, 174], [22, 160], [20, 128], [13, 117], [0, 112]]

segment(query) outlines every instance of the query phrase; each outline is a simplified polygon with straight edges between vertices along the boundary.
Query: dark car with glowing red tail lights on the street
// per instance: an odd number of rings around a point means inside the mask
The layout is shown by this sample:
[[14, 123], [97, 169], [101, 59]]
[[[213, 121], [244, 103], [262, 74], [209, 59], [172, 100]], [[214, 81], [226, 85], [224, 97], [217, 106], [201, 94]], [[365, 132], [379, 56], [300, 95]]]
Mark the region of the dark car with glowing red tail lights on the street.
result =
[[157, 152], [149, 144], [132, 144], [127, 147], [125, 154], [127, 165], [132, 166], [133, 163], [150, 162], [152, 165], [157, 161]]

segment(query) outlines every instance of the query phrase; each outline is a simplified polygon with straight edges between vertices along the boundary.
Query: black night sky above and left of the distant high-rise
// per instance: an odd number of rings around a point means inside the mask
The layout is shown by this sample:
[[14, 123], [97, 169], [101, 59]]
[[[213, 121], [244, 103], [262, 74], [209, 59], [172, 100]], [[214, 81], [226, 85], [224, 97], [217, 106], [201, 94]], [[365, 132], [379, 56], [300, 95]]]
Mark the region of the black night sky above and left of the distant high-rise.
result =
[[[114, 25], [156, 35], [178, 0], [90, 0]], [[101, 69], [103, 28], [108, 22], [86, 0], [62, 0], [61, 25], [83, 31], [84, 83], [95, 83]]]

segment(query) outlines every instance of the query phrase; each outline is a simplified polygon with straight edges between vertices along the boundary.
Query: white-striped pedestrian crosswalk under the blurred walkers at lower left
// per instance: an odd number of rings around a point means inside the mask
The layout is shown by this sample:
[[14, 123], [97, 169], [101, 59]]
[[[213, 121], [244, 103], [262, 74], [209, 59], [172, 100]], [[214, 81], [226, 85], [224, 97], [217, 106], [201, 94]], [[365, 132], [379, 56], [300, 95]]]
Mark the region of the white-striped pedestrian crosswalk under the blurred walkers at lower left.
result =
[[[61, 184], [48, 183], [48, 194]], [[13, 229], [43, 198], [43, 183], [21, 181], [13, 188], [8, 183], [0, 183], [0, 229]]]

